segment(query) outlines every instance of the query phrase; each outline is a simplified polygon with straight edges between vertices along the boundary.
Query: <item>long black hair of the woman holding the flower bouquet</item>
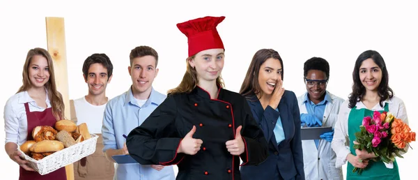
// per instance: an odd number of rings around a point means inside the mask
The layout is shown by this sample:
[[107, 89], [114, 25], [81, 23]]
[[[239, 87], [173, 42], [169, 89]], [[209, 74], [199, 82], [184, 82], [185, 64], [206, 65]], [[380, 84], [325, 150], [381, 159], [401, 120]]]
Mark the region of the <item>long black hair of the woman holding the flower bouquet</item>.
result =
[[359, 55], [357, 61], [355, 61], [355, 66], [353, 70], [353, 92], [348, 96], [349, 104], [348, 107], [353, 108], [355, 104], [362, 100], [364, 94], [366, 93], [366, 88], [363, 86], [362, 81], [359, 77], [359, 69], [362, 66], [362, 63], [366, 59], [373, 59], [379, 68], [382, 70], [382, 81], [378, 87], [378, 96], [380, 97], [380, 106], [383, 107], [382, 102], [387, 100], [387, 98], [392, 98], [394, 96], [394, 91], [389, 87], [389, 73], [387, 73], [387, 68], [385, 60], [382, 56], [376, 51], [367, 50]]

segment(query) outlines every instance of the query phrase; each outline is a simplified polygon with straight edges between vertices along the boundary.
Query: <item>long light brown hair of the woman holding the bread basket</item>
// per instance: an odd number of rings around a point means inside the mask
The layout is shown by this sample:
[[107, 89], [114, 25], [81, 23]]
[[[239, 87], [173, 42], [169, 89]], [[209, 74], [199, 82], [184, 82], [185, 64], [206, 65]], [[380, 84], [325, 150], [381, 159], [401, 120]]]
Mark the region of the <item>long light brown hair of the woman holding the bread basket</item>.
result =
[[44, 85], [44, 87], [48, 91], [48, 98], [51, 101], [52, 106], [52, 114], [54, 114], [54, 117], [56, 120], [63, 119], [63, 113], [64, 113], [64, 103], [63, 103], [63, 97], [61, 96], [61, 93], [56, 90], [56, 84], [55, 84], [55, 75], [54, 75], [54, 65], [52, 63], [52, 57], [49, 54], [47, 50], [44, 50], [40, 47], [33, 48], [29, 50], [28, 54], [26, 55], [26, 61], [23, 65], [23, 71], [22, 71], [22, 87], [19, 88], [17, 93], [20, 93], [22, 91], [27, 91], [31, 89], [32, 83], [31, 80], [29, 80], [29, 65], [31, 64], [31, 60], [34, 56], [39, 55], [42, 57], [45, 57], [47, 59], [48, 67], [49, 67], [49, 80]]

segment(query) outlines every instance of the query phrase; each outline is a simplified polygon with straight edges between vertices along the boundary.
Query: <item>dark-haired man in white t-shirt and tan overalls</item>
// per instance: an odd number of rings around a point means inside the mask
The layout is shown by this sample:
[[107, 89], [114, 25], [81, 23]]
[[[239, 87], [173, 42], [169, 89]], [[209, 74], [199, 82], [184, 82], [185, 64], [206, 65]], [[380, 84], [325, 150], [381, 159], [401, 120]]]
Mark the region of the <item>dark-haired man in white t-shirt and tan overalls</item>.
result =
[[[77, 125], [86, 123], [89, 133], [98, 135], [96, 150], [91, 156], [74, 163], [75, 180], [107, 180], [114, 178], [114, 163], [104, 156], [101, 135], [104, 108], [108, 98], [106, 87], [111, 80], [113, 65], [106, 54], [92, 54], [84, 61], [83, 76], [88, 86], [88, 94], [74, 100], [71, 108]], [[72, 102], [71, 102], [72, 105]]]

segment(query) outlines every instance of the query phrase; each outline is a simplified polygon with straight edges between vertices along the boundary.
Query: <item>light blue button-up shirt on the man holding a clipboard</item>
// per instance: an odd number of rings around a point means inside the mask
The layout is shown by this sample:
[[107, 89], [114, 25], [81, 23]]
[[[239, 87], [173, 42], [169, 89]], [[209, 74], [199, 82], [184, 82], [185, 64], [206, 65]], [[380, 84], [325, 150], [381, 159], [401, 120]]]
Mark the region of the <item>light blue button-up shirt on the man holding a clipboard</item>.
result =
[[[128, 135], [132, 129], [140, 126], [166, 97], [152, 89], [146, 103], [139, 106], [130, 88], [127, 92], [109, 100], [103, 117], [103, 152], [107, 149], [122, 149], [125, 144], [123, 135]], [[166, 166], [161, 171], [157, 171], [150, 165], [132, 163], [116, 165], [114, 179], [174, 180], [176, 177], [172, 166]]]

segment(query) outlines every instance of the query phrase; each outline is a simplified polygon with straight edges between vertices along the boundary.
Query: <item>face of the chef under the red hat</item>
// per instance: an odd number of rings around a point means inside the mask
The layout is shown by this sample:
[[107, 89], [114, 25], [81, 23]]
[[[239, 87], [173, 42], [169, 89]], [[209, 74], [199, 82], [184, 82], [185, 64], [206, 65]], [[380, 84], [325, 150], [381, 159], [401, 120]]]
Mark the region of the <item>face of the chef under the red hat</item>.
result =
[[196, 54], [194, 59], [189, 59], [189, 64], [196, 69], [199, 84], [215, 82], [224, 68], [224, 50], [203, 50]]

